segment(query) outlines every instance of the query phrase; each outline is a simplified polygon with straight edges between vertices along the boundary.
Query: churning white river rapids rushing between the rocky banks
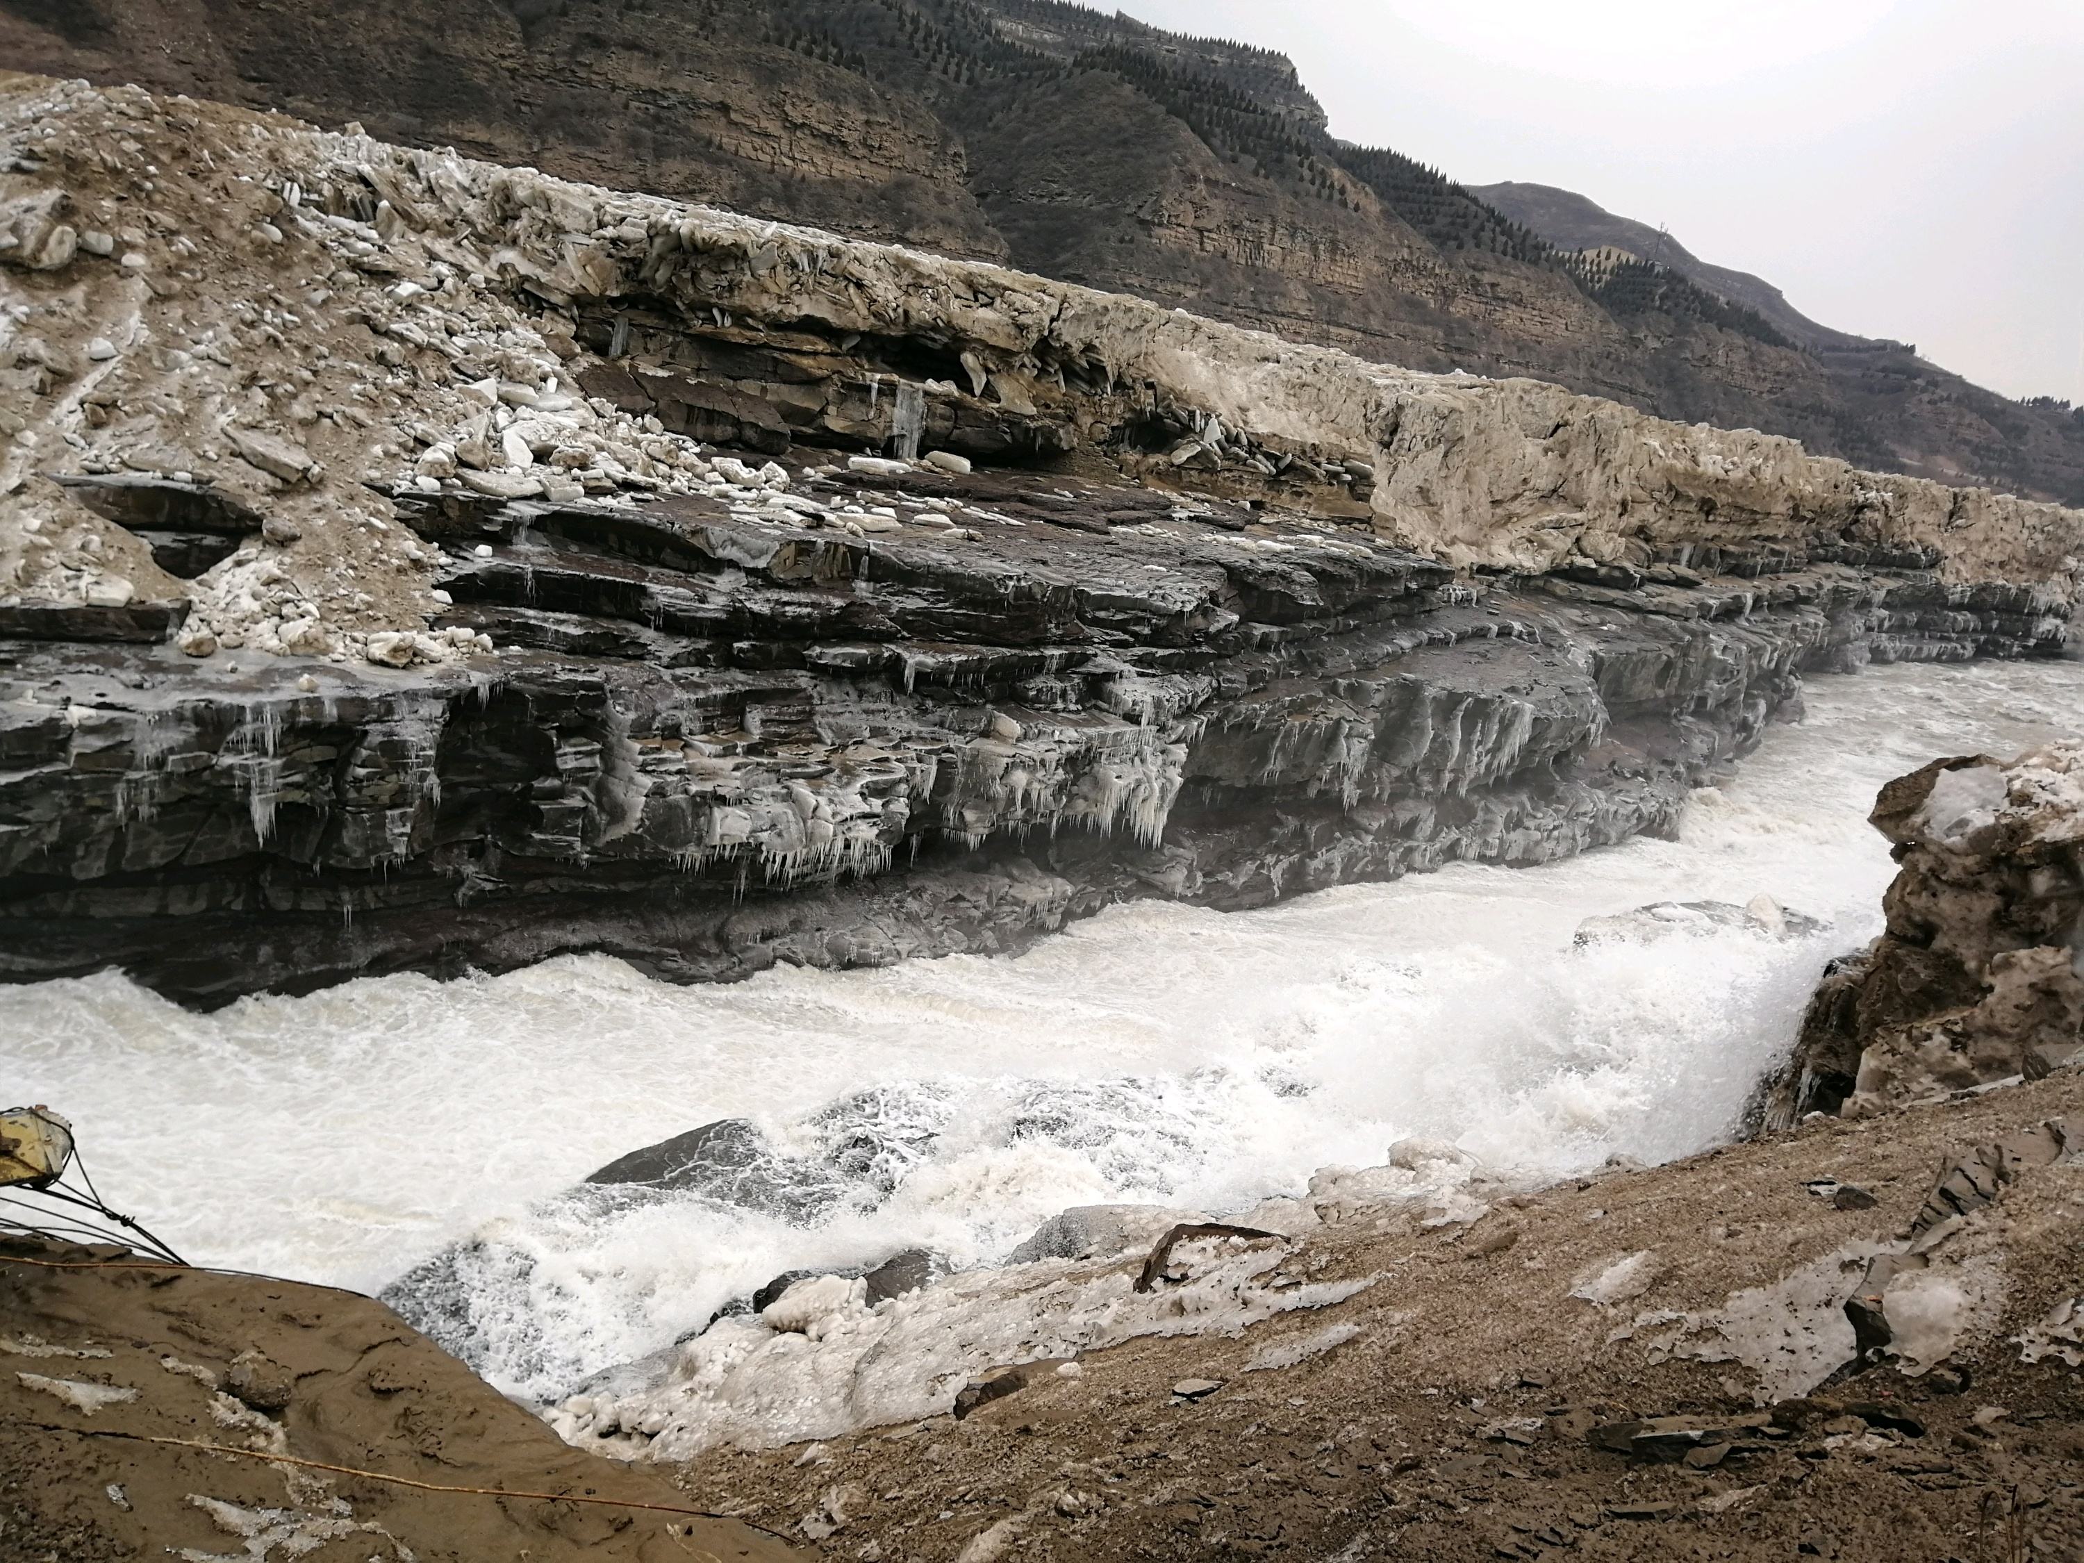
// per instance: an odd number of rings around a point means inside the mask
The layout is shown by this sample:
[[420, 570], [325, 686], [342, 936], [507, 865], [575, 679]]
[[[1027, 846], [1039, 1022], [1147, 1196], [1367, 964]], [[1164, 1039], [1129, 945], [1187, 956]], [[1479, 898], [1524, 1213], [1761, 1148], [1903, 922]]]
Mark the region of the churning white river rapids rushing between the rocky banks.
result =
[[[1713, 1144], [1821, 965], [1878, 932], [1876, 790], [2080, 711], [2080, 663], [1817, 679], [1676, 842], [1259, 913], [1127, 907], [1019, 959], [736, 988], [561, 959], [217, 1015], [113, 973], [0, 990], [0, 1096], [73, 1117], [102, 1190], [196, 1261], [377, 1288], [479, 1234], [471, 1355], [550, 1398], [782, 1269], [992, 1263], [1069, 1205], [1240, 1209], [1403, 1136], [1544, 1175]], [[1571, 942], [1588, 917], [1759, 894], [1830, 929]], [[723, 1117], [827, 1171], [798, 1221], [561, 1194]]]

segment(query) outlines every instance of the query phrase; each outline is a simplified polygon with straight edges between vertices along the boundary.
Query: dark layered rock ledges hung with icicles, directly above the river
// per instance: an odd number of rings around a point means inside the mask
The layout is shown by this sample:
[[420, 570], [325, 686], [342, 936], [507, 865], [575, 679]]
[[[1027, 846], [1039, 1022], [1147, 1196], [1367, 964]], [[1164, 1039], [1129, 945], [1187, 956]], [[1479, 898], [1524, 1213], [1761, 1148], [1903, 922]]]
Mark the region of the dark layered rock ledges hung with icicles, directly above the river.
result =
[[1876, 631], [1915, 575], [1580, 606], [1601, 588], [1457, 584], [1332, 531], [1269, 554], [1150, 500], [1107, 540], [982, 506], [965, 542], [427, 511], [456, 625], [517, 646], [496, 661], [17, 644], [0, 969], [204, 1004], [565, 950], [694, 982], [1540, 863], [1671, 829], [1803, 669], [2011, 634]]

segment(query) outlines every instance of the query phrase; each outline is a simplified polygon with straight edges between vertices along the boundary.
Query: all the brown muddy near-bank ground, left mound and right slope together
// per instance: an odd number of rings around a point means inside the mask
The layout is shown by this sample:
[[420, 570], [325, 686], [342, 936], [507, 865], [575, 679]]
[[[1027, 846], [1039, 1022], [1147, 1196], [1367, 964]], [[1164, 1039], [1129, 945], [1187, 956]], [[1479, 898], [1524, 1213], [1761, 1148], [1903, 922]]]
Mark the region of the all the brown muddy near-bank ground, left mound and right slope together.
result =
[[[804, 1555], [863, 1563], [2074, 1563], [2084, 1373], [2061, 1355], [2026, 1363], [2015, 1340], [2084, 1292], [2074, 1150], [2021, 1173], [1949, 1240], [2001, 1284], [1942, 1367], [1840, 1369], [1759, 1415], [1751, 1367], [1669, 1355], [1669, 1315], [1892, 1240], [1951, 1157], [2049, 1119], [2084, 1123], [2084, 1075], [1815, 1121], [1534, 1194], [1492, 1190], [1473, 1225], [1425, 1225], [1423, 1207], [1321, 1205], [1332, 1219], [1296, 1240], [1300, 1263], [1323, 1280], [1380, 1277], [1344, 1305], [1236, 1340], [1092, 1353], [963, 1421], [686, 1467], [613, 1465], [559, 1444], [348, 1292], [15, 1244], [0, 1248], [0, 1559], [765, 1563], [798, 1555], [786, 1536]], [[1840, 1209], [1815, 1180], [1857, 1184], [1876, 1205]], [[1638, 1252], [1651, 1259], [1636, 1273], [1646, 1284], [1623, 1288], [1634, 1294], [1571, 1294]], [[1248, 1369], [1282, 1348], [1298, 1361]], [[135, 1394], [90, 1413], [31, 1380]], [[1742, 1436], [1690, 1461], [1601, 1446], [1611, 1436], [1598, 1430], [1642, 1417], [1746, 1415]], [[152, 1438], [746, 1523], [421, 1492]]]

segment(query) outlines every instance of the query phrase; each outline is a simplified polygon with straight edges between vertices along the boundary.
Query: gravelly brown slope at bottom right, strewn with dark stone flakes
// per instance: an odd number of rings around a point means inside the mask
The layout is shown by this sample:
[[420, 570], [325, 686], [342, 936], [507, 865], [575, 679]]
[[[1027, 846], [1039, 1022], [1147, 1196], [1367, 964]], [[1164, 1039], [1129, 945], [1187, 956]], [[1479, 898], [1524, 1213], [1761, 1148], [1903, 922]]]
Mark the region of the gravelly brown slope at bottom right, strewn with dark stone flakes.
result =
[[[2084, 1123], [2084, 1077], [1571, 1182], [1494, 1205], [1473, 1227], [1363, 1211], [1307, 1240], [1328, 1277], [1382, 1275], [1340, 1307], [1238, 1340], [1138, 1340], [1088, 1355], [1077, 1378], [1038, 1373], [965, 1421], [711, 1455], [681, 1480], [696, 1503], [827, 1557], [890, 1563], [2067, 1563], [2084, 1557], [2084, 1373], [2021, 1363], [2011, 1336], [2084, 1290], [2076, 1155], [1971, 1217], [1963, 1240], [2001, 1255], [2003, 1305], [1944, 1369], [1840, 1371], [1694, 1465], [1590, 1438], [1638, 1417], [1757, 1411], [1757, 1375], [1661, 1361], [1648, 1342], [1667, 1332], [1640, 1315], [1719, 1307], [1844, 1244], [1888, 1240], [1949, 1155], [2059, 1115]], [[1807, 1188], [1819, 1177], [1878, 1202], [1842, 1211]], [[1511, 1246], [1480, 1252], [1507, 1230]], [[1569, 1296], [1588, 1269], [1642, 1250], [1655, 1282], [1640, 1296]], [[1246, 1371], [1269, 1344], [1338, 1325], [1357, 1334], [1294, 1367]], [[1173, 1392], [1190, 1380], [1221, 1388]]]

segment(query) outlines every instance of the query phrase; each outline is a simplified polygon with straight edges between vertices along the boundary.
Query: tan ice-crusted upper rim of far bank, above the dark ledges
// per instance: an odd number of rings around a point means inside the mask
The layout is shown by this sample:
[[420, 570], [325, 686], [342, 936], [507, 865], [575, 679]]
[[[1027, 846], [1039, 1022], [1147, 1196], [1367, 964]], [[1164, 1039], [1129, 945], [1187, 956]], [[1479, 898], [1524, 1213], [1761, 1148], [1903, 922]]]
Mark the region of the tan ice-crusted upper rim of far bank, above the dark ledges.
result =
[[[48, 88], [50, 113], [108, 96]], [[244, 123], [258, 185], [292, 198], [329, 181], [375, 185], [386, 192], [377, 238], [419, 235], [429, 254], [559, 308], [644, 300], [684, 317], [898, 336], [944, 350], [979, 396], [990, 388], [1009, 406], [1034, 386], [1130, 383], [1198, 408], [1217, 444], [1244, 431], [1346, 452], [1378, 473], [1375, 527], [1457, 567], [1546, 571], [1642, 563], [1671, 546], [1798, 548], [1828, 536], [1934, 550], [1953, 581], [2046, 584], [2063, 600], [2076, 590], [2084, 527], [2055, 504], [1861, 473], [1786, 438], [1667, 423], [1540, 381], [1371, 365], [994, 265], [281, 117], [213, 115]], [[15, 221], [17, 263], [48, 258], [52, 246], [71, 252], [58, 217]], [[342, 233], [356, 238], [356, 225]]]

